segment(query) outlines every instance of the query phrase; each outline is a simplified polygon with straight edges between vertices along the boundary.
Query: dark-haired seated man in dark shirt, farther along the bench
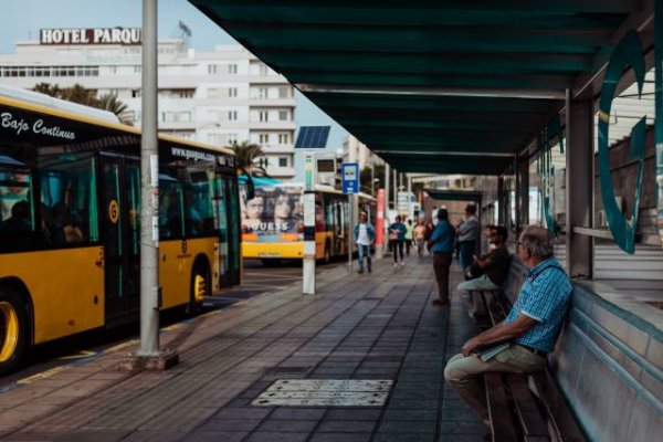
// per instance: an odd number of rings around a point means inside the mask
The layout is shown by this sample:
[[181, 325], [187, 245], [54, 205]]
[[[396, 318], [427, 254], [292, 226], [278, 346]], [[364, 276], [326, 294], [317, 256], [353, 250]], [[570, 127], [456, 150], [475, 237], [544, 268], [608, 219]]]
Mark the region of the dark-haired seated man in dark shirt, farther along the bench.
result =
[[459, 291], [496, 290], [502, 287], [506, 281], [511, 265], [511, 254], [505, 244], [508, 231], [504, 227], [497, 225], [493, 232], [490, 241], [494, 248], [484, 259], [475, 259], [467, 267], [470, 280], [460, 283]]

